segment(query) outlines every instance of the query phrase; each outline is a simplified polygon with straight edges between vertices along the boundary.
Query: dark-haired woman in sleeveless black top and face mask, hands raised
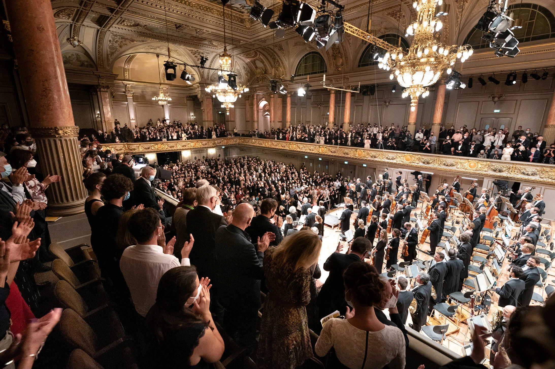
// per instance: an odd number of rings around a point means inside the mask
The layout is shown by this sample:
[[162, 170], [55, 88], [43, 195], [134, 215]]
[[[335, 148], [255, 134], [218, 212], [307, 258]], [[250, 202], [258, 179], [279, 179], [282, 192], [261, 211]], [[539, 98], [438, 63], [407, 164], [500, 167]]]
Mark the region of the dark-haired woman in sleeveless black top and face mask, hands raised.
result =
[[193, 266], [163, 274], [146, 319], [145, 367], [208, 368], [220, 360], [224, 340], [210, 314], [209, 282]]

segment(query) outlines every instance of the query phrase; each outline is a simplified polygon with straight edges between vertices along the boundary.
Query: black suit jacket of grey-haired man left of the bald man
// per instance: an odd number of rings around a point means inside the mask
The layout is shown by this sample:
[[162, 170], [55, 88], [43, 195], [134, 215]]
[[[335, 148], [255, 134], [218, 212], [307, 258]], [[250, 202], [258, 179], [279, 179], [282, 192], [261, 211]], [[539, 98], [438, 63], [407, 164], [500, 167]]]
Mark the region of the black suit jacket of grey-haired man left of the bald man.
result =
[[220, 226], [228, 225], [225, 218], [214, 214], [208, 207], [199, 205], [187, 213], [187, 234], [193, 235], [195, 243], [189, 254], [191, 265], [196, 267], [199, 278], [216, 275], [215, 237]]

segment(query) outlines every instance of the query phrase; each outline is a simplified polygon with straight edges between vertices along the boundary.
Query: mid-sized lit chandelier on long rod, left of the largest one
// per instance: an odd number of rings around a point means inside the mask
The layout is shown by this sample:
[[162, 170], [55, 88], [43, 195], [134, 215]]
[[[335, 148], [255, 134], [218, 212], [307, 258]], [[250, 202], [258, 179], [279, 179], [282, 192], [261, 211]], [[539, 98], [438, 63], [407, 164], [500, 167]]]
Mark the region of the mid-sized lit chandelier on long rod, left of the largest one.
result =
[[[226, 114], [229, 115], [229, 108], [235, 107], [233, 103], [241, 97], [241, 93], [249, 91], [248, 87], [237, 84], [237, 75], [231, 69], [231, 54], [225, 42], [225, 2], [224, 7], [224, 52], [220, 55], [220, 70], [218, 71], [218, 83], [206, 87], [206, 92], [212, 93], [212, 97], [218, 98], [221, 107], [225, 108]], [[233, 18], [231, 19], [233, 22]], [[231, 24], [233, 29], [233, 24]], [[233, 39], [231, 40], [233, 44]]]

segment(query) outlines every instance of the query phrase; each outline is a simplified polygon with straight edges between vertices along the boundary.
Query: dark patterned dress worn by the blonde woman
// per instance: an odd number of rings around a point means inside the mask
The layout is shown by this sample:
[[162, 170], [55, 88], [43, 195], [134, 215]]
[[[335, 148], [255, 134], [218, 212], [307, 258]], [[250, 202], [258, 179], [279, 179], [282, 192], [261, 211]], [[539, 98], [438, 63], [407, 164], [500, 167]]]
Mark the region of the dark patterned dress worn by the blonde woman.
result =
[[282, 270], [274, 262], [276, 247], [264, 253], [269, 293], [264, 301], [258, 356], [268, 369], [295, 369], [312, 357], [305, 306], [310, 302], [310, 269]]

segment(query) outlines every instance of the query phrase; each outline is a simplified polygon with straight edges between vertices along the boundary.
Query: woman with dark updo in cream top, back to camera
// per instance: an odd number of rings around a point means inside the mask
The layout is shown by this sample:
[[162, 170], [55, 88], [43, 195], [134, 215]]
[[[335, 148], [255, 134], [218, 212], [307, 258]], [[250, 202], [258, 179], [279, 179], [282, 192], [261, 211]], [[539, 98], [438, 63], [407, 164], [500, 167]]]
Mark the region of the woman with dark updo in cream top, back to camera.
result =
[[[364, 262], [352, 263], [346, 269], [344, 283], [345, 300], [353, 309], [347, 311], [347, 319], [331, 318], [325, 322], [314, 347], [316, 355], [326, 356], [333, 348], [335, 354], [331, 354], [327, 365], [333, 368], [405, 367], [406, 347], [401, 330], [377, 317], [377, 308], [393, 295], [391, 287], [387, 287], [389, 283], [380, 279], [374, 266]], [[392, 315], [398, 316], [396, 310], [395, 305], [390, 308]]]

